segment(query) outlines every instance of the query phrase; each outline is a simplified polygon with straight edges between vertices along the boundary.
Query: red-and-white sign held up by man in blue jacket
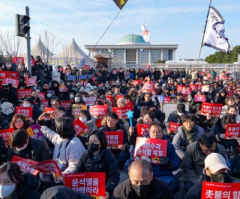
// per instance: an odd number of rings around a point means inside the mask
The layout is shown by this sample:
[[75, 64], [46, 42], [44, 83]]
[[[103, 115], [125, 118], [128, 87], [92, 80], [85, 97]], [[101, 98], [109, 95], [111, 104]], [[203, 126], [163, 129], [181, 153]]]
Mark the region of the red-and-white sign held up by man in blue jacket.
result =
[[160, 157], [167, 156], [167, 140], [137, 137], [134, 158], [160, 164]]

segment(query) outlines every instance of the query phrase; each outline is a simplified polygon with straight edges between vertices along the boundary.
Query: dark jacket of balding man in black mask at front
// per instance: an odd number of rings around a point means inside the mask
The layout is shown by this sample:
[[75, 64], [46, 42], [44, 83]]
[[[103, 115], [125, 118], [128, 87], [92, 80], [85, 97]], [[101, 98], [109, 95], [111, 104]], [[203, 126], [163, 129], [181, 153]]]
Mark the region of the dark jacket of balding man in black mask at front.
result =
[[[113, 192], [113, 199], [139, 199], [131, 188], [130, 180], [120, 183]], [[163, 181], [153, 177], [149, 199], [173, 199], [172, 191]]]

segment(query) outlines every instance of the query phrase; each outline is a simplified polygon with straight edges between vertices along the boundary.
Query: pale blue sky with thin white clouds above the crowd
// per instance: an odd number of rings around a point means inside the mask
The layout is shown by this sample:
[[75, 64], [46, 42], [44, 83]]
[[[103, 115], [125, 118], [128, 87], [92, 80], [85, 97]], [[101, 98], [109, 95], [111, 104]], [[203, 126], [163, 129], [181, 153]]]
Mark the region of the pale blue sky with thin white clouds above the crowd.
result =
[[[15, 14], [30, 8], [31, 45], [45, 30], [61, 41], [55, 54], [72, 38], [84, 45], [95, 44], [117, 15], [112, 0], [0, 0], [0, 29], [14, 31]], [[179, 44], [176, 58], [197, 58], [209, 0], [128, 0], [99, 44], [116, 44], [128, 34], [140, 34], [141, 24], [150, 31], [151, 44]], [[232, 47], [240, 44], [239, 0], [213, 0], [225, 19], [225, 35]], [[203, 47], [202, 58], [214, 53]]]

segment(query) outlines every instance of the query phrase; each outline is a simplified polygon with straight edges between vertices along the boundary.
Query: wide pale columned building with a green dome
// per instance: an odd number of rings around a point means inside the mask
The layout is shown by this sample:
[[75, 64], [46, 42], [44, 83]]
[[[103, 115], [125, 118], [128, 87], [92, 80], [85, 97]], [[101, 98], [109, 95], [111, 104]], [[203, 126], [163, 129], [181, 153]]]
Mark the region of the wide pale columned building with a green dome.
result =
[[175, 60], [176, 44], [151, 44], [141, 35], [126, 35], [116, 45], [85, 45], [92, 58], [110, 58], [111, 67], [145, 68], [159, 60]]

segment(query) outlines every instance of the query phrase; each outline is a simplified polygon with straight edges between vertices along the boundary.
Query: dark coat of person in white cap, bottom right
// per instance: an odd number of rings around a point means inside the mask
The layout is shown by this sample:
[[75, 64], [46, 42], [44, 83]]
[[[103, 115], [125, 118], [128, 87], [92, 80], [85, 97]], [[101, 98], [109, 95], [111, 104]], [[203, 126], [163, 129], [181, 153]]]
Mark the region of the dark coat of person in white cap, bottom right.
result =
[[[185, 199], [201, 199], [203, 181], [211, 182], [211, 179], [207, 175], [201, 175], [197, 183], [189, 189], [185, 196]], [[233, 183], [232, 179], [229, 176], [226, 183]]]

